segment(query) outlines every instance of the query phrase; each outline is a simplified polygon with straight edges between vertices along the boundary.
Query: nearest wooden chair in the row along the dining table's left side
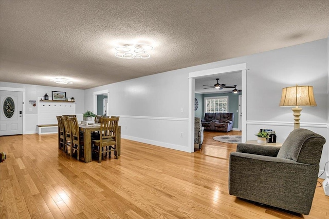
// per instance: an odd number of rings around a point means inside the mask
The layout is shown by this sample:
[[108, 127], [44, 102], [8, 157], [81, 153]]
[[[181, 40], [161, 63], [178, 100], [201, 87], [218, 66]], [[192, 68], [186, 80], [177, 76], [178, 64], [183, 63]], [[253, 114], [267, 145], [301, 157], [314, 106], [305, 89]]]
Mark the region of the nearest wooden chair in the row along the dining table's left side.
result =
[[80, 154], [83, 154], [83, 133], [79, 131], [77, 117], [68, 117], [68, 122], [71, 129], [70, 156], [72, 156], [74, 152], [77, 152], [77, 160], [79, 161]]

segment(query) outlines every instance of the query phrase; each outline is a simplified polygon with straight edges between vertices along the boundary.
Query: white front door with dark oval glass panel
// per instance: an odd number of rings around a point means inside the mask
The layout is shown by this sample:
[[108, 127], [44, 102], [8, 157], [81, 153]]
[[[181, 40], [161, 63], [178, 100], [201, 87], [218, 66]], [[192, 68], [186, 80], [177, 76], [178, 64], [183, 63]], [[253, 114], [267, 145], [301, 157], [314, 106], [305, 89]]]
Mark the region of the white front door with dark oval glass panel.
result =
[[0, 91], [0, 136], [23, 134], [23, 93]]

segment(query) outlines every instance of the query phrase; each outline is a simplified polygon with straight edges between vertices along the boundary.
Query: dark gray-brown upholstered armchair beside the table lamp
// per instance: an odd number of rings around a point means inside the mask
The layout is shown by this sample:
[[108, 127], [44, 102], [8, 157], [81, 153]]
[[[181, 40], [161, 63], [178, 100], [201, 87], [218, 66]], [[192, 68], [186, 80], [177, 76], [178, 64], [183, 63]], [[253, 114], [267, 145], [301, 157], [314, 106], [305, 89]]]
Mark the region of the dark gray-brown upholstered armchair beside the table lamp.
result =
[[238, 144], [230, 154], [229, 193], [307, 215], [324, 143], [319, 134], [295, 129], [281, 148]]

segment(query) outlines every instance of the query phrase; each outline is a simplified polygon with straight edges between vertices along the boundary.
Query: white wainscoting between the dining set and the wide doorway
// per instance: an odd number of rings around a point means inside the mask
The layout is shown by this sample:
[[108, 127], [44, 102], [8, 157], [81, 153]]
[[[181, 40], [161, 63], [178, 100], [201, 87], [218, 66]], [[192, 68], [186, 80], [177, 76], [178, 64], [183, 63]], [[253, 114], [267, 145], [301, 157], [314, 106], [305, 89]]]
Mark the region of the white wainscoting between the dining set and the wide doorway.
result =
[[[188, 118], [151, 117], [151, 116], [120, 116], [121, 137], [189, 152]], [[180, 137], [182, 133], [182, 137]]]

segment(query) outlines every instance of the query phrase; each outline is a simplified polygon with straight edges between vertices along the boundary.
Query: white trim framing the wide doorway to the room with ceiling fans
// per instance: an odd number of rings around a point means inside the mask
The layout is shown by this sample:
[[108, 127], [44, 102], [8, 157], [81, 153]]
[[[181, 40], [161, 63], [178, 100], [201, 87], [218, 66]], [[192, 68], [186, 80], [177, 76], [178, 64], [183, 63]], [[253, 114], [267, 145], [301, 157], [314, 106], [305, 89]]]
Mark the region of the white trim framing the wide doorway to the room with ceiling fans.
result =
[[194, 93], [195, 93], [195, 79], [205, 76], [217, 75], [222, 73], [230, 73], [241, 71], [242, 76], [242, 142], [246, 142], [246, 131], [247, 131], [247, 63], [224, 66], [219, 68], [212, 68], [202, 71], [195, 71], [189, 73], [189, 152], [194, 152]]

